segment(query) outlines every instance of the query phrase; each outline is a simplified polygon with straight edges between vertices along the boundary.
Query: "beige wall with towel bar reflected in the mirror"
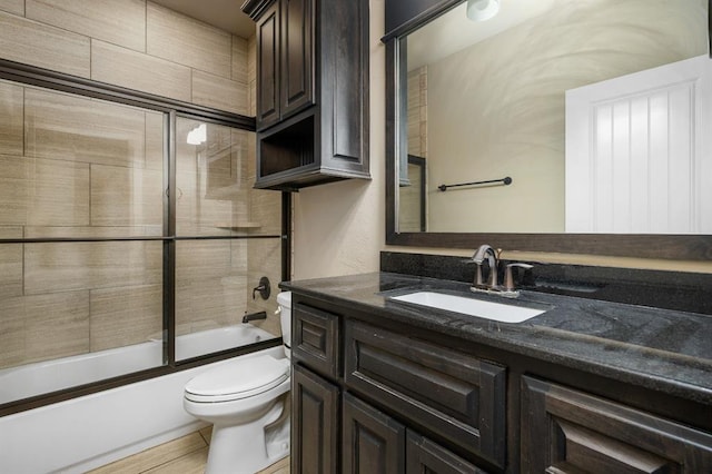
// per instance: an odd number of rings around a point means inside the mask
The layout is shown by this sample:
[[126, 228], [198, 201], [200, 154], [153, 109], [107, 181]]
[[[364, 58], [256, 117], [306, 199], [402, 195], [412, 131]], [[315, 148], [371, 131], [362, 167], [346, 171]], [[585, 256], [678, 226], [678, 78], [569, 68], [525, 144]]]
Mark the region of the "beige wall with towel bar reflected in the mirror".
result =
[[564, 231], [565, 90], [708, 52], [706, 3], [558, 0], [429, 65], [428, 230]]

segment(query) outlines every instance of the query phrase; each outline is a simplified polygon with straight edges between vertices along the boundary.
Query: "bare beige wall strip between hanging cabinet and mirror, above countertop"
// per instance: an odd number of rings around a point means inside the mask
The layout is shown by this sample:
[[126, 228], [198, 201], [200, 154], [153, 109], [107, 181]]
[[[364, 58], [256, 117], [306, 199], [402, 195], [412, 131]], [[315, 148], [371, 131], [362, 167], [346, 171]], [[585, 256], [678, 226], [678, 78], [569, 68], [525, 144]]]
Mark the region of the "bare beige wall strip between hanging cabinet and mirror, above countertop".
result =
[[370, 0], [370, 176], [294, 195], [294, 278], [377, 271], [385, 243], [384, 0]]

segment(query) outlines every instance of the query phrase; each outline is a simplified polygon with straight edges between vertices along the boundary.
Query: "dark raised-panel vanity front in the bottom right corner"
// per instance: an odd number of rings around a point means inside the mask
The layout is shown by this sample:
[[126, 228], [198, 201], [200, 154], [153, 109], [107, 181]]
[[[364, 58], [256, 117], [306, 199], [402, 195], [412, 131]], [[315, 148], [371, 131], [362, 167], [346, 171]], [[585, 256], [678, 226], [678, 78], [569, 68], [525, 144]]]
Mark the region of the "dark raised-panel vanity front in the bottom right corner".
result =
[[522, 472], [710, 473], [712, 435], [524, 377]]

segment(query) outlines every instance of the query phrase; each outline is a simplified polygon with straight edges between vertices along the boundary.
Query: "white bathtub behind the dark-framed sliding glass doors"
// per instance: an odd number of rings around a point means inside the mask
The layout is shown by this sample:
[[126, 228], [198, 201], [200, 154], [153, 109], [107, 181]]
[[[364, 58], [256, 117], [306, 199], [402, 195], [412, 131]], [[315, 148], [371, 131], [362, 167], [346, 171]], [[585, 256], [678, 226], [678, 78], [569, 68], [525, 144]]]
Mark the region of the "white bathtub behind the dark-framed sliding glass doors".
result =
[[[220, 350], [219, 344], [227, 344], [227, 339], [231, 343], [222, 348], [234, 347], [238, 333], [248, 337], [245, 344], [255, 342], [257, 337], [274, 337], [255, 327], [248, 326], [249, 330], [245, 330], [244, 326], [235, 328], [240, 330], [211, 329], [202, 332], [205, 334], [195, 333], [188, 335], [190, 337], [177, 338], [178, 358], [201, 354], [205, 339], [214, 343], [209, 346], [212, 350]], [[42, 381], [61, 379], [52, 375], [55, 372], [79, 376], [100, 367], [101, 375], [106, 377], [107, 367], [121, 367], [120, 361], [128, 365], [137, 359], [146, 362], [146, 354], [134, 356], [140, 350], [149, 349], [149, 355], [156, 355], [152, 353], [156, 346], [159, 347], [157, 356], [160, 361], [160, 344], [145, 343], [86, 356], [31, 364], [32, 371], [26, 373], [28, 381], [24, 383], [21, 381], [21, 369], [3, 371], [8, 378], [0, 381], [0, 391], [23, 389], [23, 385], [37, 386]], [[130, 354], [131, 350], [136, 350], [137, 354]], [[284, 357], [281, 347], [240, 357], [249, 358], [261, 354]], [[199, 429], [205, 424], [192, 418], [182, 408], [184, 386], [197, 374], [226, 362], [228, 361], [0, 417], [0, 473], [82, 473]], [[52, 368], [52, 363], [58, 365]], [[29, 366], [22, 368], [27, 367]], [[119, 372], [116, 375], [134, 372], [136, 366], [132, 367], [128, 371], [126, 367], [117, 368]], [[80, 381], [80, 377], [72, 379], [75, 384], [82, 383]], [[9, 388], [8, 382], [11, 385]], [[43, 392], [47, 389], [43, 388]]]

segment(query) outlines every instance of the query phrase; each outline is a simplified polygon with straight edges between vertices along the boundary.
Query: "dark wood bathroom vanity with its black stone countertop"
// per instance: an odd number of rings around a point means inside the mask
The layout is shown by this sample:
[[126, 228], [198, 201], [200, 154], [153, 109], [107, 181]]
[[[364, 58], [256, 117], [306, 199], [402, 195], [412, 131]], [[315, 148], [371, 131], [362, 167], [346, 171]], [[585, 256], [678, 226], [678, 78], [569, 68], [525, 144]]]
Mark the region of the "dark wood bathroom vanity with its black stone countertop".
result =
[[523, 290], [504, 303], [544, 313], [498, 323], [394, 299], [498, 296], [387, 271], [283, 287], [295, 473], [712, 471], [708, 315]]

